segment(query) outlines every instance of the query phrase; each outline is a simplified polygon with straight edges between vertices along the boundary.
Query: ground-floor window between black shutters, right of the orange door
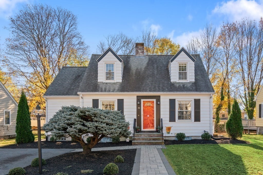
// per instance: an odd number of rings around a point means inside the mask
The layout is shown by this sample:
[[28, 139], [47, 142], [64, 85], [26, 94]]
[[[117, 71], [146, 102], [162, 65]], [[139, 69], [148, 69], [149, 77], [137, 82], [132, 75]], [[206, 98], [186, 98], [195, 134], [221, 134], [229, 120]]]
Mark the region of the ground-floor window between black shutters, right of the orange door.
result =
[[192, 120], [192, 102], [178, 101], [178, 120]]

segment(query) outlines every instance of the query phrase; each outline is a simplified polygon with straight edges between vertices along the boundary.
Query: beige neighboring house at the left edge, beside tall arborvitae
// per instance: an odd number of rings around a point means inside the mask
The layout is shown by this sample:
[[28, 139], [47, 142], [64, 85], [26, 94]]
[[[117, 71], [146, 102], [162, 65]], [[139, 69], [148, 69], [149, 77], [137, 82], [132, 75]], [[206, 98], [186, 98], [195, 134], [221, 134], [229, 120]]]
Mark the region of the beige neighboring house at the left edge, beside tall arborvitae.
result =
[[18, 104], [0, 81], [0, 139], [16, 136]]

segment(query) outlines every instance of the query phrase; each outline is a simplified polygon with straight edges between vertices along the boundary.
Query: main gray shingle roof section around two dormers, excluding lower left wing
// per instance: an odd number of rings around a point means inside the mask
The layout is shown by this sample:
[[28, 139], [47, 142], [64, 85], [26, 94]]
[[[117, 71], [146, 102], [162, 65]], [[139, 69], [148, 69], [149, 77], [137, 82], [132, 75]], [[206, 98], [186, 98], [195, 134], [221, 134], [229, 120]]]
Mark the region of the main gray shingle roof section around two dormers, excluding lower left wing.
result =
[[169, 60], [174, 55], [119, 55], [125, 67], [122, 82], [98, 82], [100, 55], [92, 55], [78, 92], [214, 92], [200, 55], [195, 61], [195, 82], [171, 82]]

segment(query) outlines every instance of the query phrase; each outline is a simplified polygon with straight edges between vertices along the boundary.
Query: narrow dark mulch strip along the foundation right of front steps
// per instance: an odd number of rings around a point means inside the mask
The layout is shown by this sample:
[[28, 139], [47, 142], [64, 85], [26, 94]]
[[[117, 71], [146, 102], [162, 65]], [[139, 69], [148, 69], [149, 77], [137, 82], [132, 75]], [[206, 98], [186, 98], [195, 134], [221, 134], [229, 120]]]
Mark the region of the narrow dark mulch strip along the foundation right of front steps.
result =
[[176, 144], [248, 144], [244, 140], [201, 140], [201, 139], [192, 139], [192, 140], [164, 140], [165, 145], [176, 145]]

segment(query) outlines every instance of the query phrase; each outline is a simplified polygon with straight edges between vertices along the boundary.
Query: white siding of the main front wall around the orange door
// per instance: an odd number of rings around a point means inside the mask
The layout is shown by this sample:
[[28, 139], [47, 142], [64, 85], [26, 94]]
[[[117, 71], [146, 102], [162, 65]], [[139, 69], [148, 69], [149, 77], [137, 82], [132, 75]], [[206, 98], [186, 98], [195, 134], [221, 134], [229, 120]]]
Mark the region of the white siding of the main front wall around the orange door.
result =
[[[139, 96], [144, 96], [147, 94], [138, 94]], [[184, 132], [186, 136], [201, 136], [204, 133], [204, 130], [212, 133], [212, 116], [210, 111], [212, 106], [210, 105], [210, 95], [202, 94], [189, 94], [189, 95], [162, 95], [154, 94], [156, 96], [160, 95], [160, 114], [163, 119], [164, 133], [165, 126], [172, 126], [171, 134], [166, 136], [175, 136], [175, 133]], [[116, 100], [116, 109], [117, 109], [117, 99], [124, 99], [124, 115], [126, 120], [130, 123], [130, 131], [133, 132], [133, 120], [136, 118], [136, 95], [83, 95], [83, 106], [92, 107], [92, 99], [99, 100]], [[169, 99], [200, 99], [201, 108], [200, 108], [200, 122], [169, 122]], [[213, 99], [211, 99], [213, 101]], [[100, 107], [99, 102], [99, 107]], [[192, 102], [192, 107], [194, 107], [194, 100]], [[192, 114], [193, 115], [193, 114]], [[176, 116], [177, 117], [177, 116]]]

